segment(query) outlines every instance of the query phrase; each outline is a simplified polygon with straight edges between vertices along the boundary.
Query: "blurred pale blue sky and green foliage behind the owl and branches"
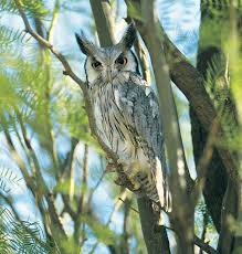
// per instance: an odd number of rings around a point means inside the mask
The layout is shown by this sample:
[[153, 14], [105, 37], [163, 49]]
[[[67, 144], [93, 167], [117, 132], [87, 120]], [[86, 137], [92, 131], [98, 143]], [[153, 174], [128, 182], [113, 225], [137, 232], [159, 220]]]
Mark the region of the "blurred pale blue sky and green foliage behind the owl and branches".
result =
[[[85, 56], [74, 33], [83, 30], [98, 44], [90, 1], [27, 4], [32, 28], [85, 80]], [[165, 31], [196, 65], [200, 1], [158, 0], [156, 4]], [[127, 25], [127, 7], [122, 0], [112, 0], [111, 6], [119, 39]], [[114, 245], [119, 253], [146, 253], [136, 199], [114, 183], [115, 173], [105, 173], [106, 158], [90, 134], [81, 89], [62, 71], [60, 62], [24, 33], [13, 1], [1, 1], [0, 203], [2, 229], [8, 229], [3, 236], [15, 250], [29, 246], [22, 253], [54, 253], [49, 235], [54, 223], [56, 234], [69, 236], [63, 244], [66, 253], [108, 254], [115, 253]], [[173, 91], [186, 157], [196, 179], [188, 102], [175, 86]], [[204, 220], [210, 223], [207, 237], [215, 245], [218, 234], [201, 199], [196, 210], [197, 235], [201, 236]], [[172, 246], [173, 235], [168, 233]]]

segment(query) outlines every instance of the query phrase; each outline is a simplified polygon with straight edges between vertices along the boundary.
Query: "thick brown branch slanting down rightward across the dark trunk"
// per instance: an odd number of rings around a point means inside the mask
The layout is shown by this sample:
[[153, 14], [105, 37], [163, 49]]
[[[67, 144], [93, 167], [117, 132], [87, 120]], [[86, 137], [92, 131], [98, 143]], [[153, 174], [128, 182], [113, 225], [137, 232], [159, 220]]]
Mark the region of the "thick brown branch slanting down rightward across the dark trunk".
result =
[[[160, 30], [162, 31], [161, 25]], [[193, 67], [186, 56], [173, 45], [167, 34], [164, 34], [164, 49], [169, 65], [170, 77], [177, 87], [185, 94], [202, 127], [209, 133], [217, 117], [217, 112], [206, 91], [204, 81], [196, 67]], [[222, 138], [222, 126], [219, 124], [218, 137]], [[236, 181], [236, 167], [231, 154], [228, 150], [219, 147], [217, 148], [229, 176]]]

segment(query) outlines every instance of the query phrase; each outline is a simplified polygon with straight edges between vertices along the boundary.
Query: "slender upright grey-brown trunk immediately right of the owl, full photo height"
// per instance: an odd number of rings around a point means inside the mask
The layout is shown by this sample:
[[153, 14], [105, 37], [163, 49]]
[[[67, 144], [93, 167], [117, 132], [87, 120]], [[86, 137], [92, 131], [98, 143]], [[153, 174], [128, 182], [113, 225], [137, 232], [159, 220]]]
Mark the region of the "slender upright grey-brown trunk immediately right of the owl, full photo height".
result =
[[[179, 251], [193, 253], [193, 205], [188, 195], [189, 178], [186, 178], [189, 172], [188, 167], [186, 167], [187, 162], [171, 91], [169, 70], [166, 64], [164, 47], [160, 46], [162, 45], [164, 36], [157, 29], [158, 17], [155, 14], [154, 1], [141, 0], [140, 13], [141, 21], [137, 22], [138, 29], [145, 39], [154, 67], [165, 144], [171, 167], [169, 186], [172, 197], [172, 211], [170, 219], [178, 235]], [[179, 210], [175, 209], [176, 207], [179, 207]]]

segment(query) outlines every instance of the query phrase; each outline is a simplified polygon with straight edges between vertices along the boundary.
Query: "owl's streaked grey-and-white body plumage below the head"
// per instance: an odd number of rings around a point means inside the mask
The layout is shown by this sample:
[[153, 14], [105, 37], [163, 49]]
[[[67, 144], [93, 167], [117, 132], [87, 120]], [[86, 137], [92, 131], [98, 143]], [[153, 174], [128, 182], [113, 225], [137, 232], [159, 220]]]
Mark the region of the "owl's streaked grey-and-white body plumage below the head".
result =
[[[137, 74], [123, 72], [113, 84], [94, 86], [91, 97], [98, 131], [106, 145], [126, 163], [141, 160], [137, 172], [131, 176], [141, 183], [139, 191], [169, 210], [164, 138], [154, 91]], [[162, 200], [156, 191], [157, 163], [161, 170]]]

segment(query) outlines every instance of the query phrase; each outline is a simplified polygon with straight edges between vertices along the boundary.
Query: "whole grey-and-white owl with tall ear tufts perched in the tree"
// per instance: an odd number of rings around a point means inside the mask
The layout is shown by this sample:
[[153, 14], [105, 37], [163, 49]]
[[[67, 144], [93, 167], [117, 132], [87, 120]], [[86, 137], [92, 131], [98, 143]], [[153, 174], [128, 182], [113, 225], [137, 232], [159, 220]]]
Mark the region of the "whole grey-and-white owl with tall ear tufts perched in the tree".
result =
[[86, 55], [85, 74], [98, 136], [119, 158], [134, 192], [170, 211], [159, 105], [131, 51], [134, 24], [119, 43], [108, 47], [97, 47], [83, 33], [75, 36]]

